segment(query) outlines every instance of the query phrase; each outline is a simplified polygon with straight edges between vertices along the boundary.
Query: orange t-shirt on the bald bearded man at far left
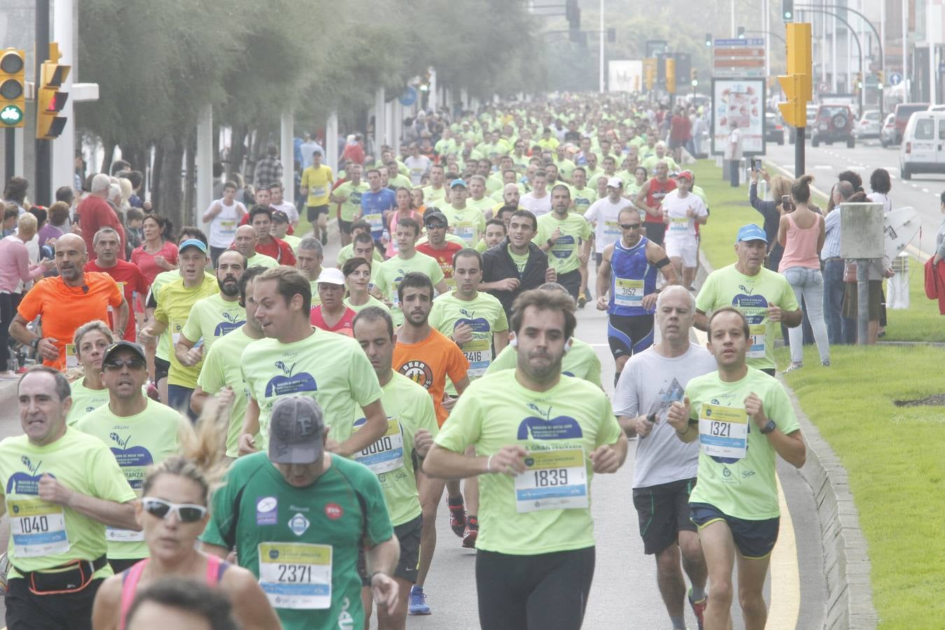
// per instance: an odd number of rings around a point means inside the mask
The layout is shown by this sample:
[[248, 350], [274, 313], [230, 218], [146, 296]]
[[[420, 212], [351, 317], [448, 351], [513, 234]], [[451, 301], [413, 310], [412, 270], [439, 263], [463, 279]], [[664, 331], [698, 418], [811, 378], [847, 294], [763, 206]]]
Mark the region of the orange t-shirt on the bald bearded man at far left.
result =
[[51, 337], [60, 350], [58, 360], [46, 360], [43, 365], [64, 369], [65, 347], [72, 343], [76, 329], [93, 319], [101, 319], [107, 324], [109, 307], [118, 308], [123, 299], [117, 282], [111, 276], [87, 271], [82, 286], [68, 286], [59, 276], [43, 278], [26, 293], [16, 311], [26, 321], [43, 315], [43, 337]]

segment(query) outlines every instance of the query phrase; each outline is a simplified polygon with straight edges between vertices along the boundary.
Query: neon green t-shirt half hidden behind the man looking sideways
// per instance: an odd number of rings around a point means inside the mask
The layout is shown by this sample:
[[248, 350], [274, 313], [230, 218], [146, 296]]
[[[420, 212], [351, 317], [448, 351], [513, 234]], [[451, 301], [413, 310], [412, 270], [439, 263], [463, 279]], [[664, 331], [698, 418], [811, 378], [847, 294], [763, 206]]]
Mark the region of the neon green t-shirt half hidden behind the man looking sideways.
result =
[[197, 377], [200, 389], [215, 396], [226, 386], [232, 387], [233, 404], [230, 408], [230, 427], [227, 430], [227, 457], [239, 457], [239, 434], [243, 430], [243, 418], [249, 396], [243, 380], [240, 361], [243, 350], [255, 339], [243, 332], [243, 327], [228, 332], [217, 340], [213, 348], [203, 354], [203, 367]]

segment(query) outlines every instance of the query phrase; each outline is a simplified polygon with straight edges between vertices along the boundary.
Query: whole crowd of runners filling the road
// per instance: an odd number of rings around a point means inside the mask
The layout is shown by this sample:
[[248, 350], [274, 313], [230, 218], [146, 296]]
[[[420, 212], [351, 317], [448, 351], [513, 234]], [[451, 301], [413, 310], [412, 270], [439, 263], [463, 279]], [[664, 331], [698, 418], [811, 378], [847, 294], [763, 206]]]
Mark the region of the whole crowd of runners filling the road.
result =
[[[730, 627], [736, 564], [763, 627], [775, 459], [804, 461], [773, 330], [801, 315], [751, 224], [696, 297], [710, 199], [679, 126], [701, 116], [490, 104], [419, 116], [376, 155], [351, 136], [337, 173], [306, 136], [297, 203], [273, 146], [253, 186], [217, 183], [204, 228], [170, 226], [130, 164], [48, 214], [11, 180], [8, 627], [404, 628], [438, 612], [448, 518], [477, 550], [483, 628], [578, 628], [593, 474], [634, 438], [672, 627], [687, 604]], [[588, 303], [608, 315], [612, 397], [575, 336]]]

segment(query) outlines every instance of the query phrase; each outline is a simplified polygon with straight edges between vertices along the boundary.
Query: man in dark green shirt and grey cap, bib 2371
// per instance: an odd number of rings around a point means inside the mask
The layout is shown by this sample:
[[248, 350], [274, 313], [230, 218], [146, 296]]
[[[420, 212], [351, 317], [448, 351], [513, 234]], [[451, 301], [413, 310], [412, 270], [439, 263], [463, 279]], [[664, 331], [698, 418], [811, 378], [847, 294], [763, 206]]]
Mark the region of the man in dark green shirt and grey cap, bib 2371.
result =
[[221, 558], [235, 548], [286, 630], [364, 627], [362, 547], [378, 608], [392, 611], [399, 600], [391, 577], [399, 546], [381, 485], [369, 468], [329, 452], [330, 439], [315, 400], [278, 400], [268, 451], [236, 460], [200, 536]]

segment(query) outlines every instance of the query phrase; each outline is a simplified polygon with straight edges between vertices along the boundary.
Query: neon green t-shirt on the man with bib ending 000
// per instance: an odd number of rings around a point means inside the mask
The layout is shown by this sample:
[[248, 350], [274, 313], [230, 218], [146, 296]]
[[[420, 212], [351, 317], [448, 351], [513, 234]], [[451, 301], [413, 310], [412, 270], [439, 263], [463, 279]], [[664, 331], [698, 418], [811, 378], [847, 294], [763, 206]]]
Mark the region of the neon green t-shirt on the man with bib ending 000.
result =
[[[413, 465], [414, 436], [424, 429], [436, 437], [439, 428], [433, 400], [422, 385], [396, 371], [391, 373], [390, 381], [381, 387], [384, 390], [381, 404], [387, 412], [387, 435], [355, 453], [352, 459], [377, 475], [390, 522], [397, 527], [421, 515]], [[355, 414], [354, 427], [364, 423], [364, 414]]]

